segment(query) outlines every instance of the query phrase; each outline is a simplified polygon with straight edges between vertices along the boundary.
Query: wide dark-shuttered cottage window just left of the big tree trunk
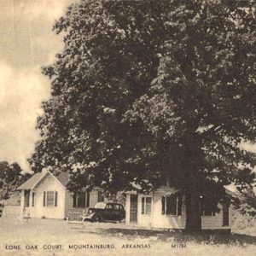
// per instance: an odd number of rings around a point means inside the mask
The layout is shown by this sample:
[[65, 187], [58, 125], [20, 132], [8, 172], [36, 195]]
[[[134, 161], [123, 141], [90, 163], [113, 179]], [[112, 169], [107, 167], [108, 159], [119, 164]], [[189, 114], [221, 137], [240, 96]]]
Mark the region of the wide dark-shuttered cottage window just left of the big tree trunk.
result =
[[182, 196], [179, 194], [162, 196], [162, 214], [182, 215]]

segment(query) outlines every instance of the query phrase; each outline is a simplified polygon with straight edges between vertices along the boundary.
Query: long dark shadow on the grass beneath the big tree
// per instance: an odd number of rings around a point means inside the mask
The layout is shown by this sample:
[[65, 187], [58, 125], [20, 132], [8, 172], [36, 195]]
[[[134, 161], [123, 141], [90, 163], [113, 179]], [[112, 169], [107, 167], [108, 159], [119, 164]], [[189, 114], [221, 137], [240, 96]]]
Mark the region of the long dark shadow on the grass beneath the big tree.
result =
[[256, 245], [256, 236], [248, 236], [244, 234], [221, 234], [219, 232], [185, 234], [182, 231], [174, 230], [137, 230], [125, 228], [100, 228], [80, 230], [80, 232], [99, 234], [102, 236], [116, 236], [124, 239], [137, 240], [137, 238], [148, 238], [151, 241], [170, 241], [170, 242], [193, 242], [197, 244], [211, 245], [230, 245], [246, 247], [248, 245]]

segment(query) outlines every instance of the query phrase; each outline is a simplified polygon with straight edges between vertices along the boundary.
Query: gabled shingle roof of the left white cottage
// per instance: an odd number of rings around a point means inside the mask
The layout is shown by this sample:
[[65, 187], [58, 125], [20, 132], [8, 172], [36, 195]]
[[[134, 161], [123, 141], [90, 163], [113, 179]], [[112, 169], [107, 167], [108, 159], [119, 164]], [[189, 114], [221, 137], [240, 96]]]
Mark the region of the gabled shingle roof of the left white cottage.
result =
[[51, 172], [38, 172], [29, 178], [25, 183], [21, 184], [18, 190], [34, 189], [37, 184], [47, 175], [54, 177], [63, 187], [67, 186], [69, 175], [67, 172], [60, 172], [58, 175], [53, 175]]

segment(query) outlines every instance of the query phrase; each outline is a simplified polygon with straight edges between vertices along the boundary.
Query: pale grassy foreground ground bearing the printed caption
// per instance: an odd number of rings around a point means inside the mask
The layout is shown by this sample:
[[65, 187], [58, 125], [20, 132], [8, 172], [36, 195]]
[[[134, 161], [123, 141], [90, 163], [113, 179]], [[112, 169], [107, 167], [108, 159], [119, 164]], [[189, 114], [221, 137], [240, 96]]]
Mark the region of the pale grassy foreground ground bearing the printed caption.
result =
[[246, 233], [195, 237], [125, 224], [0, 218], [0, 255], [256, 255], [256, 229]]

